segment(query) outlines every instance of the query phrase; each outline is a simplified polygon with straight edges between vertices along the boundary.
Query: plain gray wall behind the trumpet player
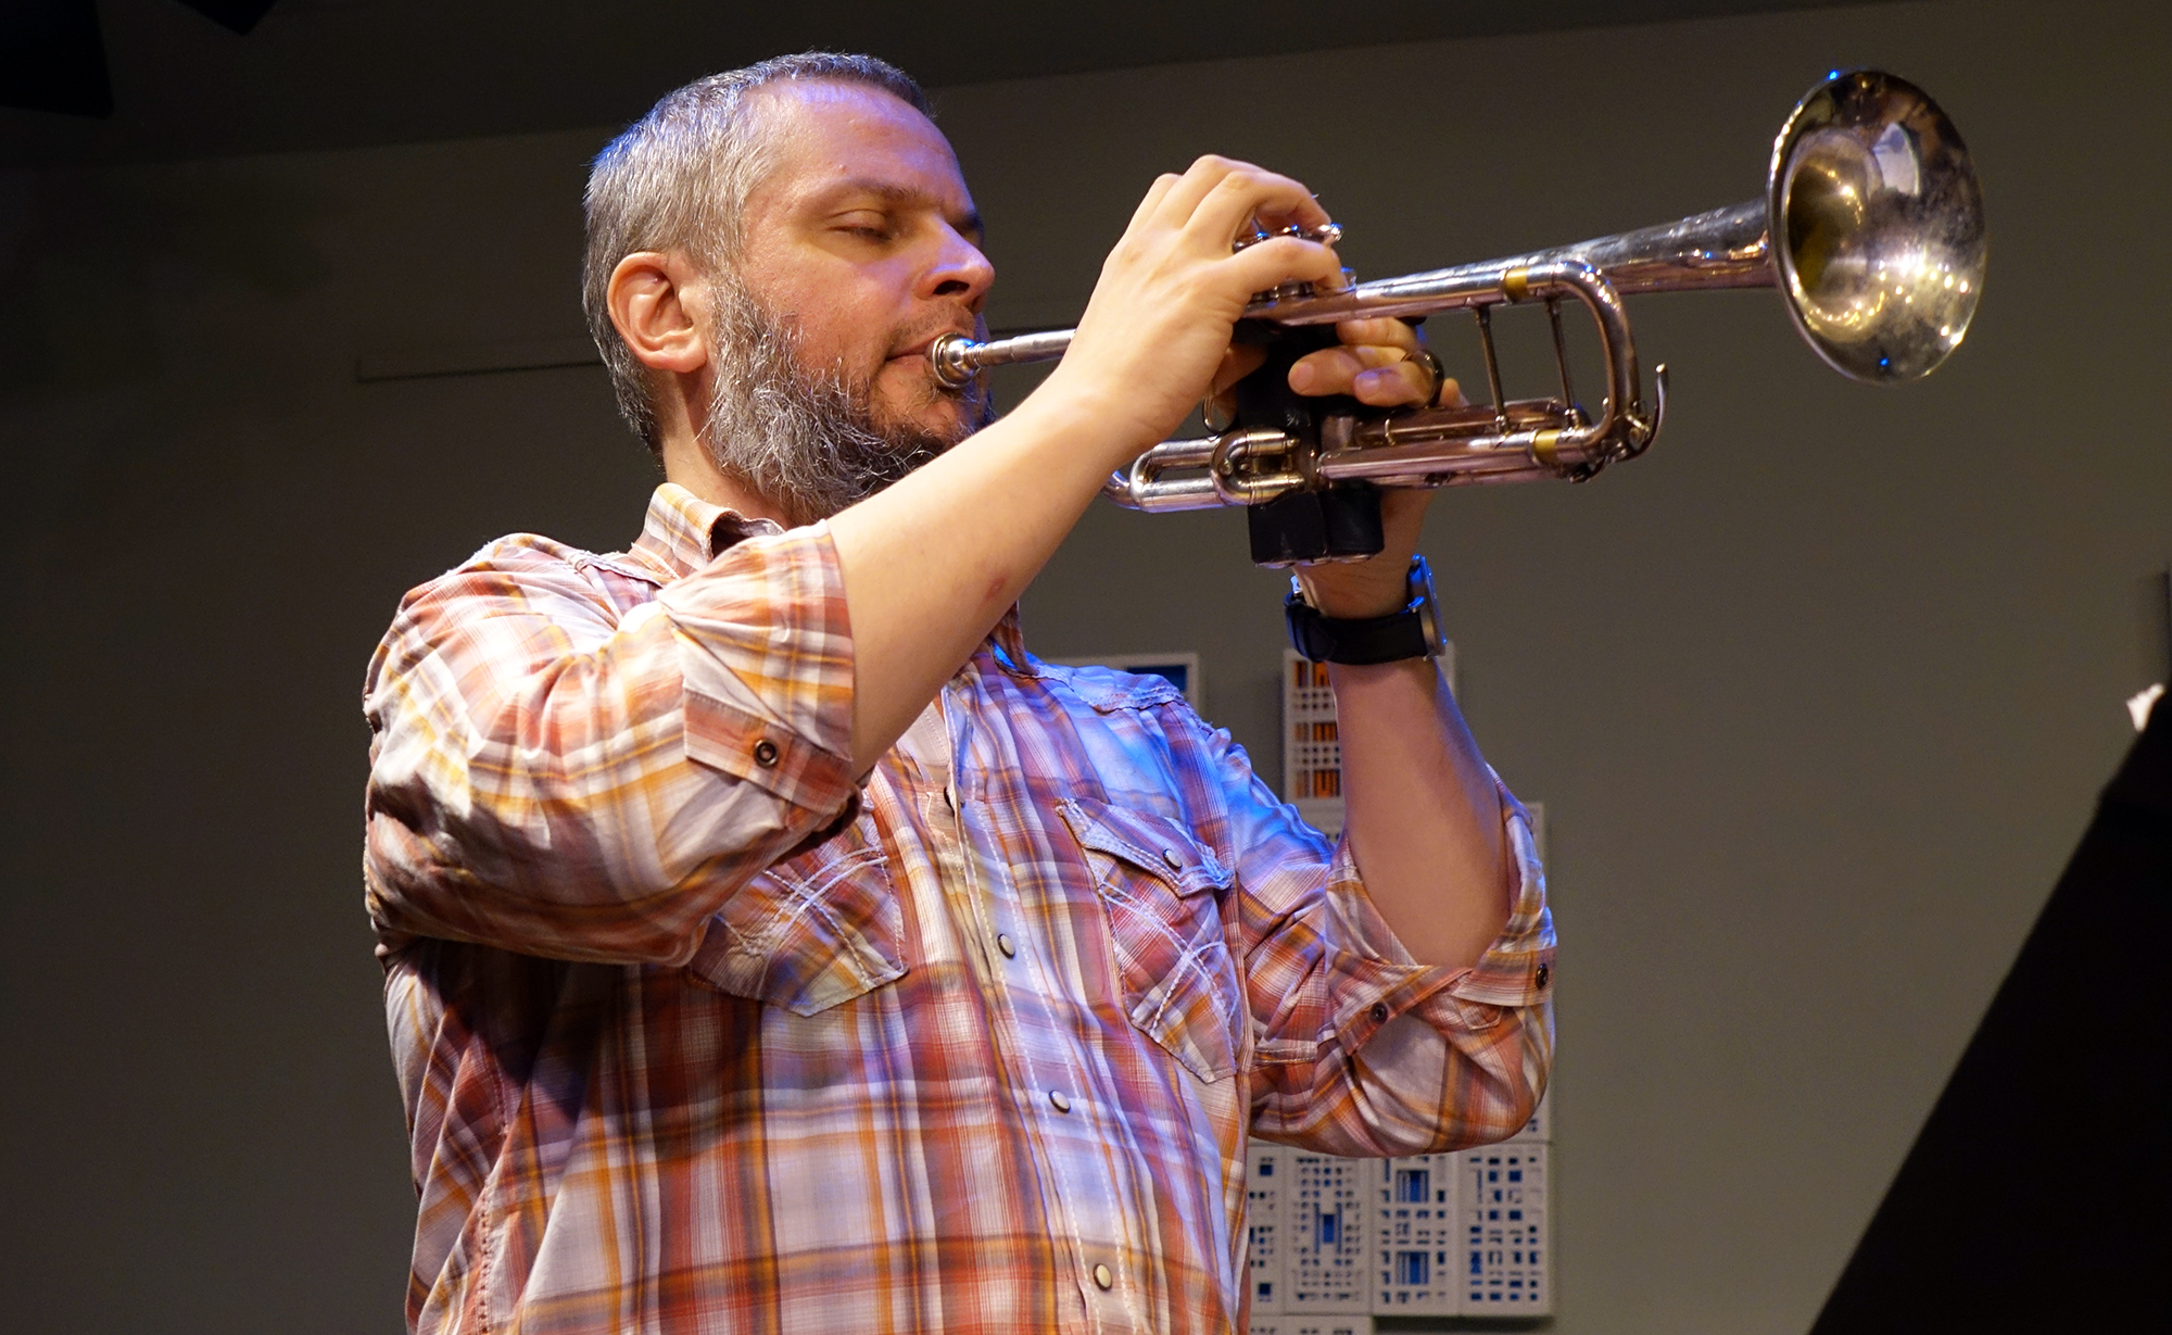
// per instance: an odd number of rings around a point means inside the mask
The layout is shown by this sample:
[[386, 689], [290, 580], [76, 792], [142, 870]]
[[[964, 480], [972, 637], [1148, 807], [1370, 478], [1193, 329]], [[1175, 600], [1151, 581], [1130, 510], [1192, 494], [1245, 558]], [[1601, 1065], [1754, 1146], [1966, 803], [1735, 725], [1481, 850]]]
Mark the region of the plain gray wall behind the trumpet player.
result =
[[[1305, 178], [1371, 276], [1748, 198], [1829, 65], [1905, 72], [1974, 148], [1992, 280], [1924, 385], [1838, 380], [1768, 294], [1649, 298], [1649, 459], [1434, 507], [1466, 711], [1553, 822], [1564, 1333], [1809, 1324], [2165, 672], [2172, 283], [2131, 257], [2168, 37], [2144, 4], [1896, 4], [940, 96], [1012, 326], [1075, 313], [1210, 148]], [[602, 137], [0, 176], [20, 1328], [397, 1324], [361, 670], [497, 533], [623, 546], [652, 474], [593, 367], [354, 367], [578, 337]], [[1275, 602], [1236, 515], [1097, 509], [1027, 633], [1197, 648], [1273, 772]]]

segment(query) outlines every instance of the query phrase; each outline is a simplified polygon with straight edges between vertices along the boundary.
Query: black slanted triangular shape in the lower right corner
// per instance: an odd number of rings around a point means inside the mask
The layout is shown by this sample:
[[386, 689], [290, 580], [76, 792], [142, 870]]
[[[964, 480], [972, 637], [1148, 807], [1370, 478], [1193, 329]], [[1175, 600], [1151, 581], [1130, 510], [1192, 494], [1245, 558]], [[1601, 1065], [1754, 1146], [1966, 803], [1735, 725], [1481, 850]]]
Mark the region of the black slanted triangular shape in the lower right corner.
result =
[[2172, 1331], [2159, 700], [1811, 1335]]

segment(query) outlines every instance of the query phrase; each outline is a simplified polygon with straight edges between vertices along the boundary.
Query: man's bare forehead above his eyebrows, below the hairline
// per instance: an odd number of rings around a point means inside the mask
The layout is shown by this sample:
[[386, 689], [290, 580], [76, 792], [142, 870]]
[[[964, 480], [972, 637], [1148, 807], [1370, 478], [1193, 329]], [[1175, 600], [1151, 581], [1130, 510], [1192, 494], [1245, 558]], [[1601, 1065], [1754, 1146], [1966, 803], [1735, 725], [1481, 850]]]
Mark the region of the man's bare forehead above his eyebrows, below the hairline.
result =
[[769, 100], [771, 178], [793, 194], [875, 185], [886, 196], [932, 196], [971, 209], [949, 139], [893, 93], [860, 83], [791, 80]]

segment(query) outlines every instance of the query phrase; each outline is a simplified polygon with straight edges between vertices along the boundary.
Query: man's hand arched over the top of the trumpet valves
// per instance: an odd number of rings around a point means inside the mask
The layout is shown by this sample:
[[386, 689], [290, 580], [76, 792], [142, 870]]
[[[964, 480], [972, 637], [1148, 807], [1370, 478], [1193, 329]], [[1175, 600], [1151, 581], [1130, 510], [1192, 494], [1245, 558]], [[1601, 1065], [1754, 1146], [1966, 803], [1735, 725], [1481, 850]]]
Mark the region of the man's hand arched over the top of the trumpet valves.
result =
[[1077, 337], [1036, 398], [1073, 402], [1082, 426], [1108, 424], [1108, 467], [1129, 463], [1208, 394], [1253, 294], [1342, 280], [1331, 246], [1273, 237], [1234, 250], [1236, 237], [1255, 224], [1327, 222], [1303, 185], [1251, 163], [1203, 157], [1182, 176], [1164, 174], [1110, 250]]

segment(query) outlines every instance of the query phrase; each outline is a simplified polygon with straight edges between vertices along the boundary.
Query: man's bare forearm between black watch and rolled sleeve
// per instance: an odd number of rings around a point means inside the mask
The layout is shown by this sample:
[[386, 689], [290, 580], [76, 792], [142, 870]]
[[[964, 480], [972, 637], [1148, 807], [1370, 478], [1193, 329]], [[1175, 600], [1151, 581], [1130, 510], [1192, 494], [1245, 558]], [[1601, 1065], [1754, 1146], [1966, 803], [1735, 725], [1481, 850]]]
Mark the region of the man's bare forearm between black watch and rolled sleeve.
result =
[[1470, 965], [1510, 911], [1501, 796], [1431, 659], [1331, 665], [1347, 828], [1366, 894], [1420, 963]]

